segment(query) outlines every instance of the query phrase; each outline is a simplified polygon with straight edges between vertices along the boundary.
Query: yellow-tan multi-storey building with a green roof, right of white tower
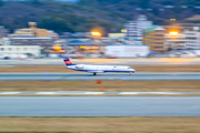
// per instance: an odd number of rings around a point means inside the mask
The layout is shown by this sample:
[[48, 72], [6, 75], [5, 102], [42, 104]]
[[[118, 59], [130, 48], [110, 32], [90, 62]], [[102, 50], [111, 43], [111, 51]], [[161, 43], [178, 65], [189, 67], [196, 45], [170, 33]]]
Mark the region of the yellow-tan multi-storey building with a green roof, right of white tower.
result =
[[149, 45], [151, 51], [162, 53], [166, 51], [166, 29], [159, 25], [151, 25], [143, 31], [143, 44]]

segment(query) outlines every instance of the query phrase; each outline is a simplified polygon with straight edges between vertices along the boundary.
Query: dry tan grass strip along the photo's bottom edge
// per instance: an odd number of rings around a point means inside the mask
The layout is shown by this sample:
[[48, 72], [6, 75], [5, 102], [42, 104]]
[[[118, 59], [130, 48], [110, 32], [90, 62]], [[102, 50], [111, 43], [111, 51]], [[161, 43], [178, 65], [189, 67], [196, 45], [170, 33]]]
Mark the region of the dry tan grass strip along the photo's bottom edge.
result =
[[200, 117], [0, 117], [0, 132], [199, 133]]

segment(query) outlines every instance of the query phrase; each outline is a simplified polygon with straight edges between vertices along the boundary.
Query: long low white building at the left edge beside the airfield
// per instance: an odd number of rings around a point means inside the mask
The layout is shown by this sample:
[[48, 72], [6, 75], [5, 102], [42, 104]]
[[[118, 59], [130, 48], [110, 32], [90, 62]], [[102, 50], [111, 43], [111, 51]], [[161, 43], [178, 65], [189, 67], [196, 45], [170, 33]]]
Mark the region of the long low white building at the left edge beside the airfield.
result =
[[41, 54], [39, 45], [0, 45], [0, 54], [2, 57], [18, 58], [20, 55], [33, 55], [36, 58]]

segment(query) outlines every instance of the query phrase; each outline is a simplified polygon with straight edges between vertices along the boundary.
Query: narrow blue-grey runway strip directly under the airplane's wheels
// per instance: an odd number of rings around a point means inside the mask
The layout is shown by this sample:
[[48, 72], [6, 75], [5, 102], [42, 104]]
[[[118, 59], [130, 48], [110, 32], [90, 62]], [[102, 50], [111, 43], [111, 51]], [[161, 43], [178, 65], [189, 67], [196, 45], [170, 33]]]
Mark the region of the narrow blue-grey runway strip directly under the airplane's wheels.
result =
[[0, 81], [67, 80], [200, 80], [200, 73], [0, 73]]

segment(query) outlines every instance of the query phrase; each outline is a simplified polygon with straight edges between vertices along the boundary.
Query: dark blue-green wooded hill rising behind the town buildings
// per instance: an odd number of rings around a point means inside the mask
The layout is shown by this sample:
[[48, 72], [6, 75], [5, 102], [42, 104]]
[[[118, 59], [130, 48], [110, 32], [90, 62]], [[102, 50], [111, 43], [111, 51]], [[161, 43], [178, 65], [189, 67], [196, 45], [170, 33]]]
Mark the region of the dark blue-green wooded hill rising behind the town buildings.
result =
[[53, 0], [0, 1], [0, 24], [13, 29], [28, 27], [29, 21], [61, 32], [84, 32], [103, 28], [118, 32], [128, 20], [146, 14], [154, 24], [200, 22], [188, 19], [200, 13], [198, 0], [80, 0], [77, 3]]

